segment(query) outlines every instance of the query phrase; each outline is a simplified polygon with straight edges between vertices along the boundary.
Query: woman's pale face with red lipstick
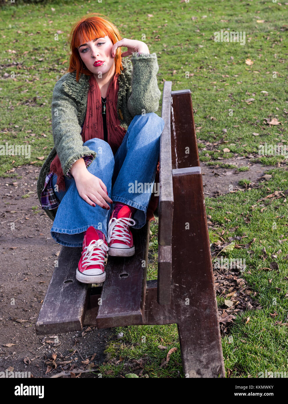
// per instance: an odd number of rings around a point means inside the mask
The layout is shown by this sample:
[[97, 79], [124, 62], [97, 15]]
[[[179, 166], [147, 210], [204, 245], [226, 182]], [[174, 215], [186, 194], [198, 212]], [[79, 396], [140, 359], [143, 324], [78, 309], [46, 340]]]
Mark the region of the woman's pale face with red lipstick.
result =
[[[110, 72], [113, 69], [114, 58], [112, 57], [113, 43], [108, 36], [98, 38], [97, 40], [91, 40], [89, 42], [80, 42], [78, 46], [78, 52], [80, 58], [87, 69], [94, 74], [102, 75]], [[97, 65], [95, 62], [100, 61]]]

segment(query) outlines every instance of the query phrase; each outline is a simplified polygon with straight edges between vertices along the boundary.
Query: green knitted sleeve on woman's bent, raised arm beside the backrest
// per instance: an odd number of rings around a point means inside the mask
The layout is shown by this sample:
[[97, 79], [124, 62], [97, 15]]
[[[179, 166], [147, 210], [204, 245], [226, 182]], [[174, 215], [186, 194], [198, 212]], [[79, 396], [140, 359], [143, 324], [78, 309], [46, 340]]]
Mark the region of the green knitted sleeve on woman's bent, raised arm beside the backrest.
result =
[[156, 53], [133, 52], [131, 76], [131, 95], [127, 107], [132, 117], [156, 112], [159, 108], [161, 91], [157, 84], [159, 70]]

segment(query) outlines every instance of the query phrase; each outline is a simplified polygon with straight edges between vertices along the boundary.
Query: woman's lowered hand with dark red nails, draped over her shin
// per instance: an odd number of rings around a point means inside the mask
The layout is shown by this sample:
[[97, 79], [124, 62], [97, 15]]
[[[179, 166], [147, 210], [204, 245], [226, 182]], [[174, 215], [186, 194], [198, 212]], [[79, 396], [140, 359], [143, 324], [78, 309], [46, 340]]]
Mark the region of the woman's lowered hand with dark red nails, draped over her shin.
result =
[[113, 201], [109, 198], [106, 185], [100, 178], [87, 170], [76, 178], [74, 177], [74, 179], [80, 197], [89, 205], [96, 206], [95, 204], [97, 204], [101, 208], [110, 209], [107, 202], [111, 204]]

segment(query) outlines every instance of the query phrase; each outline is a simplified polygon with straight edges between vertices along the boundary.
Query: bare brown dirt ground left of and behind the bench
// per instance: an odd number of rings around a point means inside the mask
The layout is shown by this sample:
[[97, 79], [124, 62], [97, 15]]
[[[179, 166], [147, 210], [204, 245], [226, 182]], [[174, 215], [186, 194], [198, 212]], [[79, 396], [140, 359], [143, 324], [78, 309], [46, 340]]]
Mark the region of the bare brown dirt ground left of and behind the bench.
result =
[[[249, 166], [250, 170], [239, 172], [201, 163], [205, 196], [227, 193], [231, 184], [233, 189], [241, 188], [238, 186], [241, 178], [255, 182], [270, 168], [250, 164], [249, 159], [225, 162]], [[45, 376], [45, 361], [53, 353], [57, 354], [57, 360], [70, 361], [62, 364], [64, 370], [70, 366], [85, 368], [81, 362], [91, 357], [97, 367], [105, 361], [103, 351], [115, 335], [112, 329], [96, 327], [86, 328], [87, 332], [58, 334], [59, 341], [55, 343], [49, 336], [36, 335], [34, 324], [61, 248], [51, 238], [52, 221], [39, 207], [36, 193], [39, 172], [39, 167], [21, 166], [13, 171], [20, 178], [0, 177], [0, 371], [14, 368], [15, 372], [30, 371], [33, 377], [49, 377], [49, 374]], [[27, 194], [28, 198], [22, 198]]]

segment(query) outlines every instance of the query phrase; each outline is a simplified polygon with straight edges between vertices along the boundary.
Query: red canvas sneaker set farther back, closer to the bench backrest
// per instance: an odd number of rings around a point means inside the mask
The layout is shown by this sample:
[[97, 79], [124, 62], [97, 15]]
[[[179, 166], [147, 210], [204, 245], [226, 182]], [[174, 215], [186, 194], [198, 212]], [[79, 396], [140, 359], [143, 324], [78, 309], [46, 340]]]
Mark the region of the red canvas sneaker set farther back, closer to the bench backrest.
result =
[[109, 244], [108, 255], [114, 257], [131, 257], [135, 254], [133, 236], [129, 226], [135, 225], [131, 219], [132, 212], [127, 205], [115, 206], [108, 223], [107, 242]]

